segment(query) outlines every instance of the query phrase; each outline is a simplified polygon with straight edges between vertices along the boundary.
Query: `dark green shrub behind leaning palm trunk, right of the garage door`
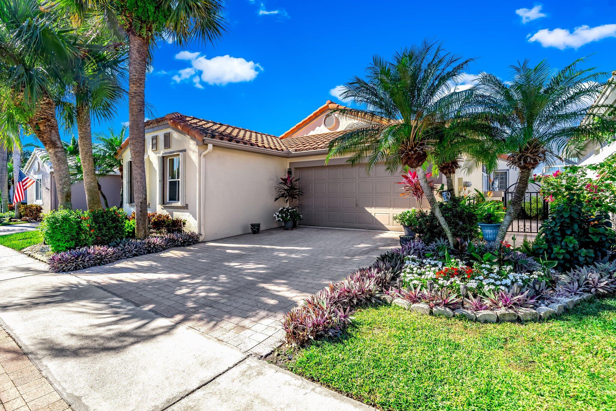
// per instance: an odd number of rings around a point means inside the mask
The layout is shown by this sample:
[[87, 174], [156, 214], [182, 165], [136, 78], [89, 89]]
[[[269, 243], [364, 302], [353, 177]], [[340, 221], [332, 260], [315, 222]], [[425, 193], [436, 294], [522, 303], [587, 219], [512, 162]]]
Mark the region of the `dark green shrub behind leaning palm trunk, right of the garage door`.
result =
[[[477, 214], [464, 198], [452, 197], [447, 203], [439, 203], [439, 208], [445, 221], [449, 224], [454, 238], [474, 240], [479, 236]], [[418, 213], [416, 232], [426, 244], [438, 238], [445, 238], [445, 230], [440, 226], [432, 210], [430, 213]]]

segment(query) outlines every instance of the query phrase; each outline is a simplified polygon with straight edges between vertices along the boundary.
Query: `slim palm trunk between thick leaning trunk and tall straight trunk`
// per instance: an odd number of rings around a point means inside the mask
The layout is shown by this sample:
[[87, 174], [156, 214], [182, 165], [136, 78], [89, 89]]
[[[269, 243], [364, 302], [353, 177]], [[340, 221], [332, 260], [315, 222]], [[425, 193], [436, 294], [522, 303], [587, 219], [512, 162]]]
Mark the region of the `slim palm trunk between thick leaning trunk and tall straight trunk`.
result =
[[79, 140], [79, 158], [83, 169], [83, 185], [86, 190], [86, 205], [88, 210], [100, 210], [99, 182], [96, 178], [96, 168], [92, 155], [92, 123], [89, 107], [77, 106], [77, 134]]

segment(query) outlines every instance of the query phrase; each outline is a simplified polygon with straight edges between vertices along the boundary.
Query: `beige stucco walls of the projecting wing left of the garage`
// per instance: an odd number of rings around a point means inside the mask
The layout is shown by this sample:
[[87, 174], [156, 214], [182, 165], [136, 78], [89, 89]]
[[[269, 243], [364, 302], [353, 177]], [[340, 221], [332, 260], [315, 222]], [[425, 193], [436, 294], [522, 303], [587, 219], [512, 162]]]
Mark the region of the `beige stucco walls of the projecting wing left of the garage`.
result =
[[[165, 132], [171, 133], [171, 148], [166, 150], [162, 149]], [[274, 221], [274, 213], [284, 203], [281, 200], [274, 203], [275, 185], [280, 177], [285, 176], [288, 159], [214, 146], [203, 157], [200, 188], [199, 163], [208, 144], [198, 145], [194, 139], [170, 128], [147, 132], [145, 136], [150, 213], [168, 213], [174, 218], [185, 219], [186, 229], [200, 232], [205, 241], [248, 233], [251, 222], [260, 222], [261, 229], [280, 225]], [[150, 147], [152, 136], [158, 136], [159, 149], [156, 152]], [[159, 200], [158, 158], [178, 151], [185, 153], [185, 206], [182, 207], [160, 204]], [[127, 148], [120, 158], [126, 163], [130, 156]], [[130, 214], [134, 206], [126, 202], [128, 190], [126, 185], [124, 187], [124, 210]], [[197, 201], [199, 193], [200, 201], [203, 201], [200, 205]], [[203, 210], [202, 221], [198, 221], [198, 207]]]

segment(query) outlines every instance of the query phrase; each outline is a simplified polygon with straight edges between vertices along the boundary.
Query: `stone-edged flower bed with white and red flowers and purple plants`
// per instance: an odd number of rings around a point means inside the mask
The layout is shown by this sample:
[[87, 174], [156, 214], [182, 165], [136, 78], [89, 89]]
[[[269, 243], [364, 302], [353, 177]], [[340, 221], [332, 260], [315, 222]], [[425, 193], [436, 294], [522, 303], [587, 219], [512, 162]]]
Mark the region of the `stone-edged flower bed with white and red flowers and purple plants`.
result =
[[339, 336], [358, 306], [394, 303], [428, 315], [479, 322], [547, 320], [593, 296], [616, 293], [616, 261], [568, 272], [511, 245], [416, 240], [381, 254], [373, 266], [330, 283], [283, 319], [286, 341], [307, 346]]

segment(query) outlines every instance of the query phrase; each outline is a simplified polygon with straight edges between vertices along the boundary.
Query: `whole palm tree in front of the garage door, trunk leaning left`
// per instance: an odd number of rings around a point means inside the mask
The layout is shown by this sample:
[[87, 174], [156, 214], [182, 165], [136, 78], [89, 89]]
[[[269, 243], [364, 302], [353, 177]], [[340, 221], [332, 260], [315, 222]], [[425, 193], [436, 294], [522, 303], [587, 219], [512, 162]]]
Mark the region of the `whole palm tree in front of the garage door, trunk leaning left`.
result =
[[452, 88], [472, 61], [431, 41], [404, 49], [391, 62], [375, 56], [367, 78], [354, 77], [342, 92], [343, 99], [352, 99], [363, 108], [334, 110], [363, 121], [331, 140], [326, 158], [351, 155], [347, 162], [365, 161], [368, 172], [379, 162], [391, 174], [399, 173], [401, 167], [414, 169], [451, 244], [452, 232], [440, 213], [424, 166], [439, 133], [456, 133], [458, 123], [453, 120], [468, 110], [472, 93], [452, 92]]

